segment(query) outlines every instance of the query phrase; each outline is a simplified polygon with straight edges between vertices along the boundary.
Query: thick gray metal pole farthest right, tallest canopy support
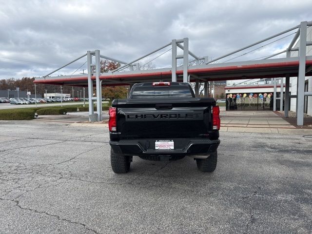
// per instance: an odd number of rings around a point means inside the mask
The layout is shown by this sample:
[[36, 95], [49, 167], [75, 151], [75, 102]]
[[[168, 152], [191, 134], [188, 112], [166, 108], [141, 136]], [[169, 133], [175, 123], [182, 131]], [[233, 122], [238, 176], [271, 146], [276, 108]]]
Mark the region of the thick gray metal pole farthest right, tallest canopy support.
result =
[[306, 77], [307, 21], [300, 23], [299, 73], [297, 91], [297, 125], [303, 125], [304, 82]]

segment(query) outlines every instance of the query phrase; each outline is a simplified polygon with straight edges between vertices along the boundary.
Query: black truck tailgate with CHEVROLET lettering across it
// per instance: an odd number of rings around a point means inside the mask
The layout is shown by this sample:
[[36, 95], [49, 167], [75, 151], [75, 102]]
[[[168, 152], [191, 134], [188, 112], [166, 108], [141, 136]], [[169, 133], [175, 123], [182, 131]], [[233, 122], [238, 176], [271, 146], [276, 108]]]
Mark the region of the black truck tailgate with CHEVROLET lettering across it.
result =
[[212, 98], [165, 99], [118, 99], [118, 138], [201, 138], [212, 131]]

